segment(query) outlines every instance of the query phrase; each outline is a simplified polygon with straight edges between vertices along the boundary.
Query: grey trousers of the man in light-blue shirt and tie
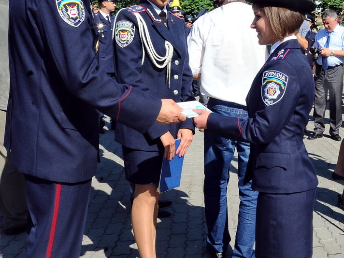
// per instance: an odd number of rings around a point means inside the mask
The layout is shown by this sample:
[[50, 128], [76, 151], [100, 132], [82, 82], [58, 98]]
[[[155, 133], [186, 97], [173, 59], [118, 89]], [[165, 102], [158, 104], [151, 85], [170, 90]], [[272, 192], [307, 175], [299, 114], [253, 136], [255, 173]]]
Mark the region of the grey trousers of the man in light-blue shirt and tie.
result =
[[324, 71], [321, 65], [315, 66], [314, 132], [325, 130], [326, 94], [330, 101], [330, 135], [337, 135], [342, 126], [343, 66]]

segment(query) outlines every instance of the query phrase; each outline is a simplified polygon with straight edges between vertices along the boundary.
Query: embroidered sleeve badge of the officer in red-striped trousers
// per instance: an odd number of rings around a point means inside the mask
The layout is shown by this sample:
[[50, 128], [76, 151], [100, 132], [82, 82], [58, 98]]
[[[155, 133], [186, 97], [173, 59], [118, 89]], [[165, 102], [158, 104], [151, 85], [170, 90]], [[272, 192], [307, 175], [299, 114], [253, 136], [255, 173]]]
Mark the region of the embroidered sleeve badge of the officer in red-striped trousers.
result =
[[80, 0], [55, 0], [57, 11], [61, 18], [73, 27], [79, 26], [85, 20], [84, 4]]

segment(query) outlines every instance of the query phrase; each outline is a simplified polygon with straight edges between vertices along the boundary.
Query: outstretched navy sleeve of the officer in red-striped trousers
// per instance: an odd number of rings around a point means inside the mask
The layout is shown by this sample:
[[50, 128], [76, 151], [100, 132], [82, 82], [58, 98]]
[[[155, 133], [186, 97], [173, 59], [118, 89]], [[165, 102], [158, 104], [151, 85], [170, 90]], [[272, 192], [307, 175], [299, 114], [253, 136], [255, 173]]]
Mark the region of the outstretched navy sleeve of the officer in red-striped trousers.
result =
[[[37, 24], [44, 53], [51, 54], [51, 65], [72, 95], [116, 121], [146, 132], [159, 114], [161, 100], [104, 76], [93, 50], [90, 4], [74, 2], [78, 4], [67, 8], [60, 0], [32, 1], [33, 6], [28, 7], [33, 9], [30, 19]], [[73, 8], [77, 8], [74, 13]], [[70, 19], [73, 15], [79, 19]], [[145, 109], [147, 103], [150, 109]]]

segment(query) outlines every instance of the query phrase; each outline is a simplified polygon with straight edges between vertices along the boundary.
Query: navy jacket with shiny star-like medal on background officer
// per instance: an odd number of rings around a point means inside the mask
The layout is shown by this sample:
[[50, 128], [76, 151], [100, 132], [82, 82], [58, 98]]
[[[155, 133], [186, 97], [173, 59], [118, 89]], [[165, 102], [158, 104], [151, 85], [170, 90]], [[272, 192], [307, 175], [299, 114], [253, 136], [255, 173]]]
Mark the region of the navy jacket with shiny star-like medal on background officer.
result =
[[100, 67], [104, 67], [106, 73], [114, 73], [114, 44], [112, 43], [112, 26], [114, 15], [109, 14], [110, 22], [98, 11], [94, 14], [93, 26], [97, 34], [98, 62]]

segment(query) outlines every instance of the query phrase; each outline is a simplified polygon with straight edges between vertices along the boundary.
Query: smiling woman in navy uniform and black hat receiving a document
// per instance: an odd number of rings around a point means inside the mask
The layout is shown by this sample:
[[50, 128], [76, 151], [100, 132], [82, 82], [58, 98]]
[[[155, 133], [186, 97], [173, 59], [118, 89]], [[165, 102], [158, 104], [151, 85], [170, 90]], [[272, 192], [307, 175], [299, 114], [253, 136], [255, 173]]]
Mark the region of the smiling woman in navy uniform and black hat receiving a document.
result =
[[196, 110], [201, 115], [194, 122], [214, 135], [251, 143], [246, 175], [259, 191], [256, 258], [311, 258], [318, 180], [303, 128], [313, 104], [314, 80], [296, 34], [303, 14], [316, 5], [308, 0], [249, 2], [259, 44], [272, 44], [246, 98], [249, 119]]

